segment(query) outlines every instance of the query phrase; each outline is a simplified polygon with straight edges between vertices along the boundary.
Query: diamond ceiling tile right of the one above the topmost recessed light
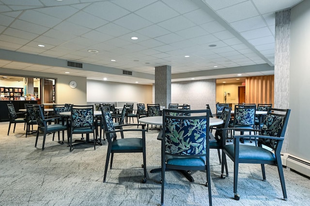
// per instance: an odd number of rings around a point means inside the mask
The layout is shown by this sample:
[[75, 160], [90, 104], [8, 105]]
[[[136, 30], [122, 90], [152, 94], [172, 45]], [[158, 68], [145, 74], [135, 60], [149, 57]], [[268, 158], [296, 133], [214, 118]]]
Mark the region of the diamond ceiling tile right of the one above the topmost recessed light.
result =
[[[182, 22], [182, 23], [180, 23]], [[191, 21], [189, 21], [186, 17], [180, 15], [180, 16], [176, 16], [174, 18], [168, 19], [166, 21], [160, 22], [158, 23], [159, 26], [168, 29], [172, 32], [175, 31], [179, 31], [182, 29], [187, 29], [190, 27], [195, 26], [194, 23], [192, 23]]]

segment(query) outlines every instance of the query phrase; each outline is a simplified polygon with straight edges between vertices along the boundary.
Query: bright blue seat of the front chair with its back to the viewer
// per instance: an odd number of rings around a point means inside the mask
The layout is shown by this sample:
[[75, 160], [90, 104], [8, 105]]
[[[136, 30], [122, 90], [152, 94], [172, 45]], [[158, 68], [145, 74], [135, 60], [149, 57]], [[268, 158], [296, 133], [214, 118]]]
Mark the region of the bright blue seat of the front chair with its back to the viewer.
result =
[[205, 166], [205, 158], [186, 158], [166, 155], [167, 164], [179, 165], [179, 166]]

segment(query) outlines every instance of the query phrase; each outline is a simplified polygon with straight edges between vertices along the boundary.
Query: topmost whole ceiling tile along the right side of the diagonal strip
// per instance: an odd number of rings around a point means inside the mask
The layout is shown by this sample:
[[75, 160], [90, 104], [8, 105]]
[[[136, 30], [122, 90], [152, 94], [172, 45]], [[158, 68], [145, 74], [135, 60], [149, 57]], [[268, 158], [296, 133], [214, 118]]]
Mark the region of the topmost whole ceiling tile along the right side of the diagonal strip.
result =
[[244, 1], [233, 6], [217, 10], [217, 13], [229, 23], [259, 15], [251, 1]]

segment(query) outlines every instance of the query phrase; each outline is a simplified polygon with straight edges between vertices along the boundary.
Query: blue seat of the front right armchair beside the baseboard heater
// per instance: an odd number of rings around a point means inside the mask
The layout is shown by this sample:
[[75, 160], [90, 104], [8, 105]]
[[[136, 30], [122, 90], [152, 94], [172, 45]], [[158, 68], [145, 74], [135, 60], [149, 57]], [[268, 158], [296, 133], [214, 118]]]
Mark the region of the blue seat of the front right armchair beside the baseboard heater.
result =
[[[225, 145], [224, 149], [227, 154], [234, 158], [234, 145]], [[263, 147], [239, 145], [239, 160], [276, 161], [276, 156]]]

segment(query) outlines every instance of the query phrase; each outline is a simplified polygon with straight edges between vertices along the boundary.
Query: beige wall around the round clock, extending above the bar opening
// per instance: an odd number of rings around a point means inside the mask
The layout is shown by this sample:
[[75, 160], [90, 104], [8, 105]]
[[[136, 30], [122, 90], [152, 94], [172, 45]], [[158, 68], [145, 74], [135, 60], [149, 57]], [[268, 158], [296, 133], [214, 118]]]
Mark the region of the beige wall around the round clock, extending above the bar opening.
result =
[[[25, 77], [37, 77], [37, 78], [55, 78], [57, 79], [56, 85], [56, 103], [73, 103], [76, 105], [86, 104], [86, 77], [51, 74], [42, 72], [31, 72], [15, 69], [1, 68], [0, 74], [25, 76]], [[70, 88], [69, 82], [75, 80], [78, 84], [77, 88]], [[41, 99], [43, 99], [41, 97]]]

